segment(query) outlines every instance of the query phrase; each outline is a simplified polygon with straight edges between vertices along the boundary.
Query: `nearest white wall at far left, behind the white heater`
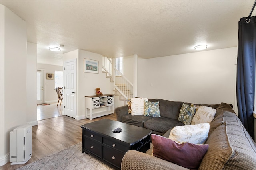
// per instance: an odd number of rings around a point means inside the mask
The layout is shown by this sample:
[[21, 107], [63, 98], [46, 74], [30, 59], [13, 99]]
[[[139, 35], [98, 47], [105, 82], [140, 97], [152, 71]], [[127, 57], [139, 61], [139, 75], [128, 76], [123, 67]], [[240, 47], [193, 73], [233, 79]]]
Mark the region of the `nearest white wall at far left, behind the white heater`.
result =
[[27, 38], [26, 22], [0, 5], [0, 158], [9, 160], [9, 133], [27, 122]]

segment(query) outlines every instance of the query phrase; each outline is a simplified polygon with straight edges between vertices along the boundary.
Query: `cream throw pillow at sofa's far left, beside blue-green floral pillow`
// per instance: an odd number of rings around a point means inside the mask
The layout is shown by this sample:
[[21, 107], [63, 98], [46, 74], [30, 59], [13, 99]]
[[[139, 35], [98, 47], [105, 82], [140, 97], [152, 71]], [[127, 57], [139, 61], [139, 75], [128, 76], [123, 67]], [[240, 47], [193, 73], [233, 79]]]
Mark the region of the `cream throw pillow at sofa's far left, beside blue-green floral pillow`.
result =
[[148, 101], [148, 98], [131, 98], [132, 116], [144, 115], [144, 100]]

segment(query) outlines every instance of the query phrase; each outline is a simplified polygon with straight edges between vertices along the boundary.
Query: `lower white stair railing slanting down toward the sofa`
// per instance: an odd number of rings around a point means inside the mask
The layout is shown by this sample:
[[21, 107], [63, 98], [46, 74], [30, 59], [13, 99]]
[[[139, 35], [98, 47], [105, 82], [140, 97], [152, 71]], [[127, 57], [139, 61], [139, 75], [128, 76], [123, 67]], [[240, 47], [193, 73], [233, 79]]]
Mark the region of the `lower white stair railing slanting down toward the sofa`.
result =
[[133, 84], [116, 68], [114, 68], [114, 87], [127, 100], [133, 98]]

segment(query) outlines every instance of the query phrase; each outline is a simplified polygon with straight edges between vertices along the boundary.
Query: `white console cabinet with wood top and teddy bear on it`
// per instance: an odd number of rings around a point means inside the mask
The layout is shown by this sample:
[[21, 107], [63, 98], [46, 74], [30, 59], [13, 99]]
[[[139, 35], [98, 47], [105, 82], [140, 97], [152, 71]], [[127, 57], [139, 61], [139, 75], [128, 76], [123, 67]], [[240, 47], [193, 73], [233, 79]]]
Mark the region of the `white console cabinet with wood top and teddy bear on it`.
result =
[[90, 120], [112, 114], [114, 109], [114, 94], [85, 96], [85, 117]]

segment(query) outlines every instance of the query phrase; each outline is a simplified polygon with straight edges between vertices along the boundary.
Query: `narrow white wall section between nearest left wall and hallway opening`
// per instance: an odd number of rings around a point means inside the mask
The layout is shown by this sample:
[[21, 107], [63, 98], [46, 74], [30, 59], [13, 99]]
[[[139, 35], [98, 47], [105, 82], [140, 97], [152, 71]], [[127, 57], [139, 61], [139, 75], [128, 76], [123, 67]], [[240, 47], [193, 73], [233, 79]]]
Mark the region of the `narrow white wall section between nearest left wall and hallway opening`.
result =
[[27, 42], [27, 125], [37, 125], [36, 44]]

